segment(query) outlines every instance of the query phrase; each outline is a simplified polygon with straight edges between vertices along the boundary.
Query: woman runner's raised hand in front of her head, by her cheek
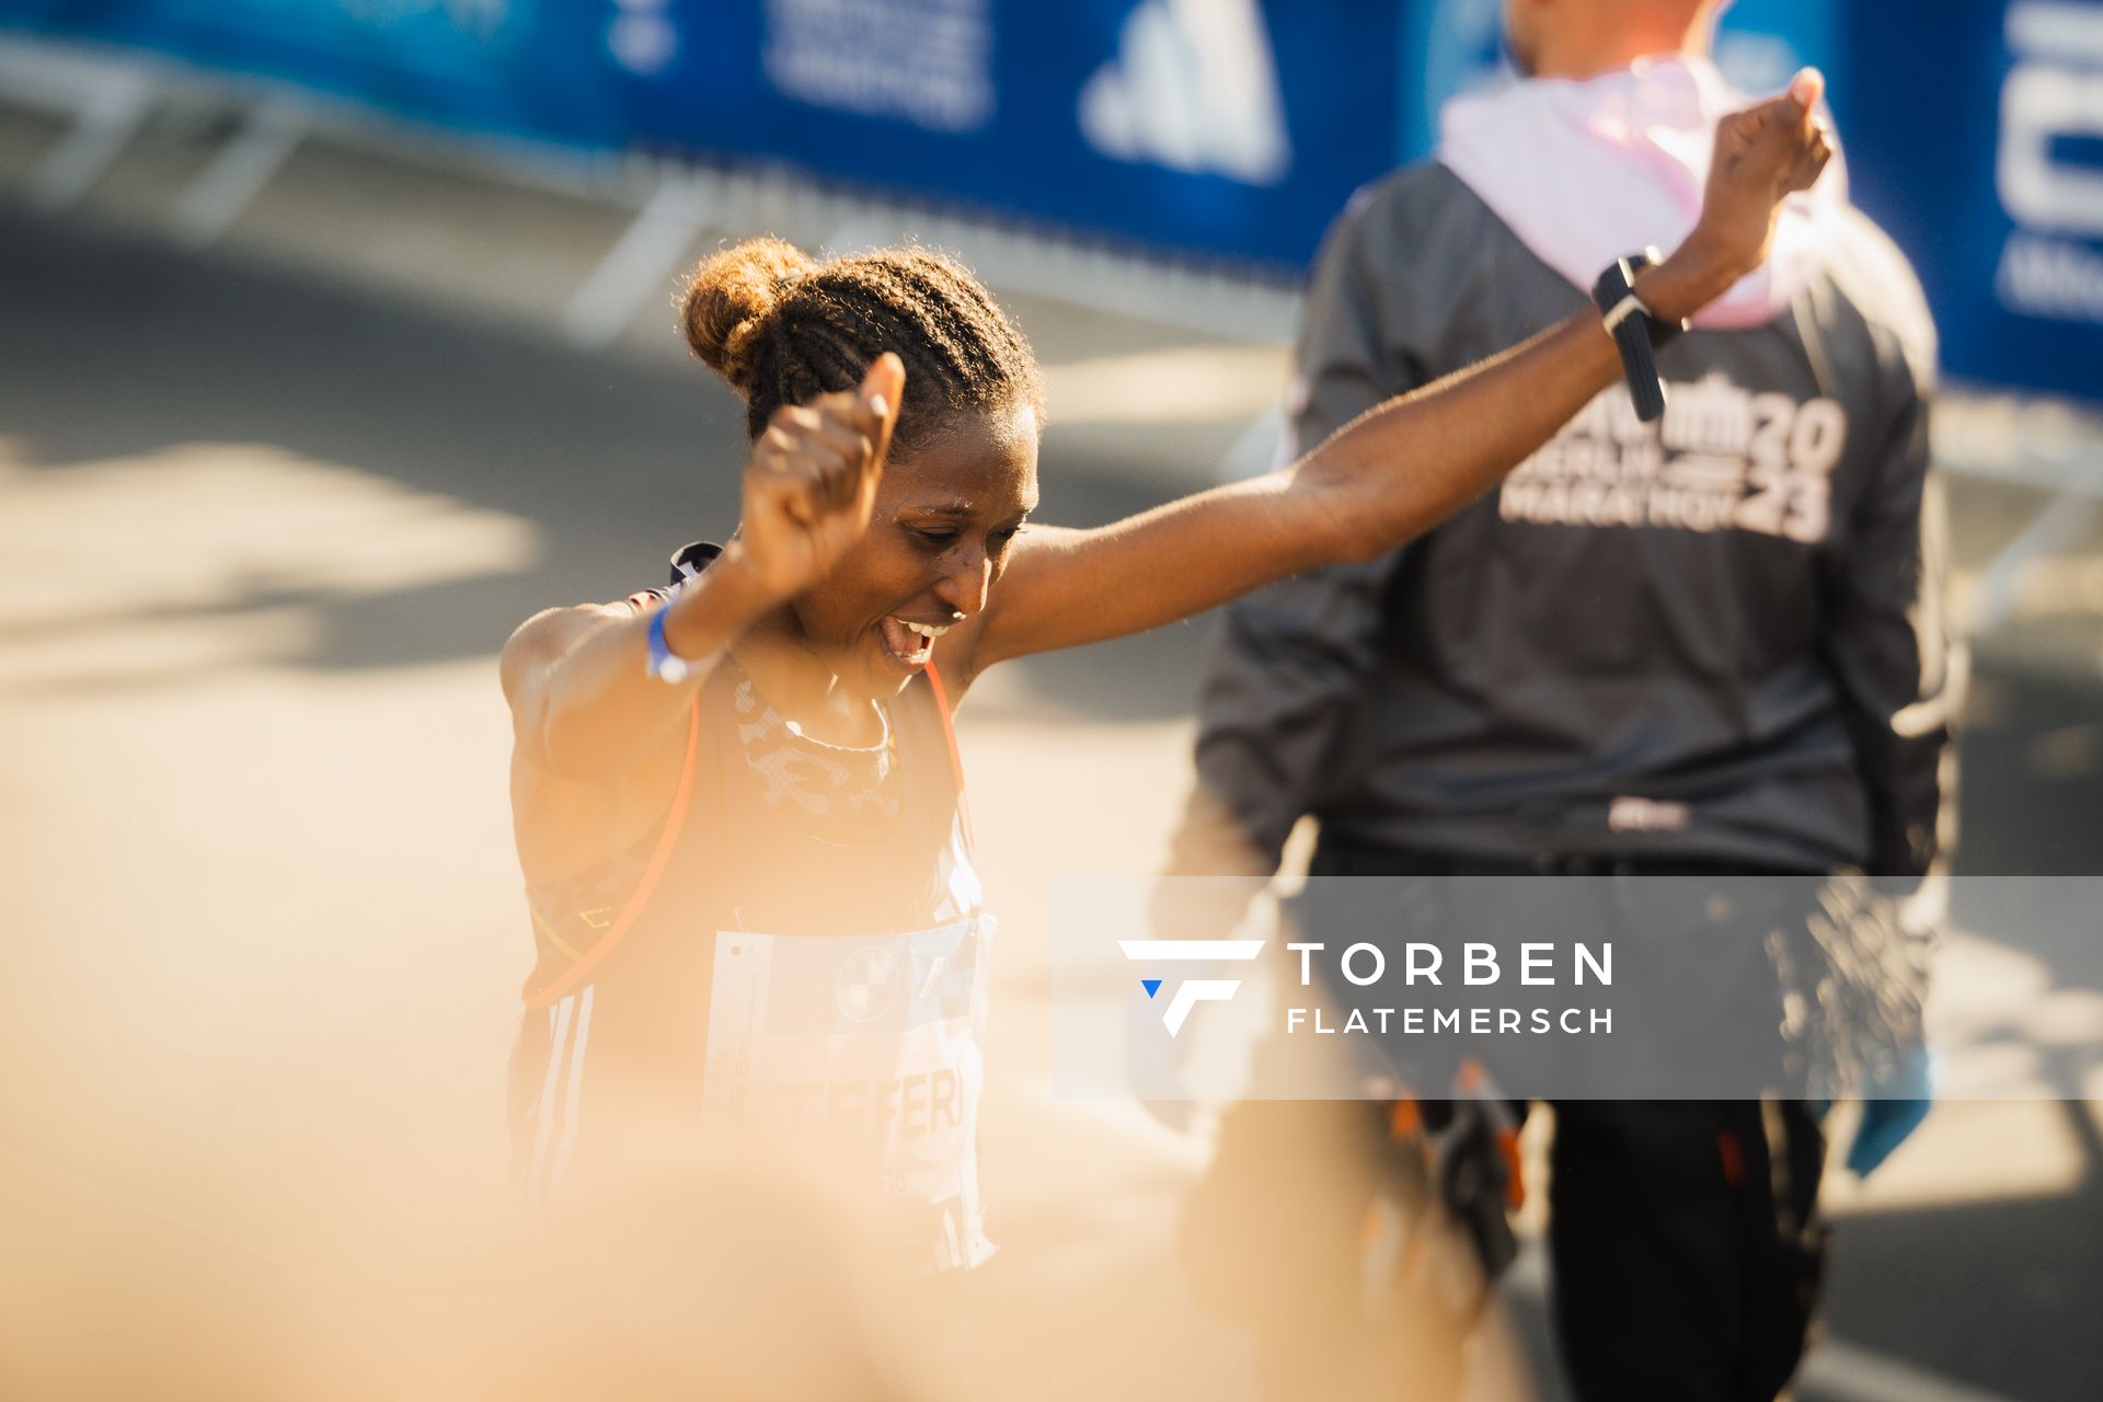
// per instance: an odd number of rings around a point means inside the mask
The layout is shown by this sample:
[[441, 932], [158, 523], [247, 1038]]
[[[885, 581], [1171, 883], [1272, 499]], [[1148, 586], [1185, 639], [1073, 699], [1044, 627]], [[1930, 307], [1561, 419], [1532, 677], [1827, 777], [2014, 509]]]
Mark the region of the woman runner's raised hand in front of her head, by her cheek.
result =
[[738, 568], [774, 599], [810, 589], [869, 530], [906, 368], [885, 351], [860, 389], [774, 410], [744, 460]]

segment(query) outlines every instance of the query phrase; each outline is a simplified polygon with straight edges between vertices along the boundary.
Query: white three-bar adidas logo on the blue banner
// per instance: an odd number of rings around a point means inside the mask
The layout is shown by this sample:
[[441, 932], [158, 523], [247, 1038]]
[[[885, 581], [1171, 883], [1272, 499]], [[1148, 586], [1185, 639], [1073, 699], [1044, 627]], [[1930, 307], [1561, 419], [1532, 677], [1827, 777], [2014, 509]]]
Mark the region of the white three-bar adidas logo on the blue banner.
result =
[[1112, 160], [1274, 185], [1291, 168], [1258, 0], [1142, 0], [1081, 88], [1081, 135]]

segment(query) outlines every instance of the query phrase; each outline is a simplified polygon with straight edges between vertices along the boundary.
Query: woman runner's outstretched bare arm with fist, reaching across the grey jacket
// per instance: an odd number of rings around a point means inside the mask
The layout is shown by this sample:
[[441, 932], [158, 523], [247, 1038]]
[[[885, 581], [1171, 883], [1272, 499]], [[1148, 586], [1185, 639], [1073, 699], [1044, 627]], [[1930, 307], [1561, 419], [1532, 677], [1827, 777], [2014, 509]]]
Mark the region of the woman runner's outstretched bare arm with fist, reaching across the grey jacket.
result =
[[[1806, 69], [1722, 122], [1699, 223], [1636, 277], [1661, 322], [1695, 313], [1764, 261], [1781, 200], [1809, 189], [1830, 158], [1815, 118], [1821, 86]], [[988, 603], [972, 671], [1152, 628], [1314, 565], [1375, 559], [1489, 490], [1615, 378], [1613, 338], [1586, 309], [1369, 410], [1277, 473], [1100, 530], [1035, 532]]]

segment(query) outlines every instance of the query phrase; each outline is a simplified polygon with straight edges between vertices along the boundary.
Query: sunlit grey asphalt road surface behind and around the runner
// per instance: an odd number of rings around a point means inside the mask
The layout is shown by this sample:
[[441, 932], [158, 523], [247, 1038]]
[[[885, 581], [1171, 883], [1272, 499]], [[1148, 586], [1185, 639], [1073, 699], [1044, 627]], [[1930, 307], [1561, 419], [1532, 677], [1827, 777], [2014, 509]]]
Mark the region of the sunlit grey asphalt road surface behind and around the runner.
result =
[[[1146, 444], [1060, 429], [1054, 401], [1043, 519], [1159, 500]], [[29, 1072], [0, 1080], [0, 1223], [297, 1270], [385, 1249], [362, 1217], [374, 1185], [332, 1169], [343, 1137], [391, 1143], [427, 1192], [501, 1188], [528, 935], [494, 654], [536, 607], [620, 597], [726, 532], [740, 456], [730, 395], [669, 357], [572, 353], [0, 206], [0, 1055]], [[1960, 563], [1985, 570], [2040, 500], [1960, 490]], [[1203, 631], [1016, 664], [965, 708], [1005, 910], [1003, 1288], [1064, 1326], [1028, 1358], [1030, 1396], [1247, 1396], [1243, 1343], [1197, 1318], [1167, 1257], [1192, 1146], [1131, 1106], [1030, 1093], [1026, 1070], [1049, 879], [1159, 864]], [[1971, 870], [2103, 872], [2099, 637], [2086, 614], [2017, 612], [1981, 647]], [[267, 1131], [229, 1141], [229, 1122]], [[1806, 1398], [2103, 1394], [2095, 1106], [1945, 1106], [1888, 1188], [1842, 1207], [1844, 1347]], [[193, 1341], [147, 1320], [208, 1278], [141, 1278], [118, 1244], [8, 1257], [19, 1339], [84, 1310], [183, 1375]], [[1525, 1272], [1514, 1310], [1539, 1347]], [[1115, 1387], [1062, 1337], [1112, 1358]], [[99, 1366], [0, 1343], [11, 1362], [63, 1396], [90, 1396], [72, 1385]]]

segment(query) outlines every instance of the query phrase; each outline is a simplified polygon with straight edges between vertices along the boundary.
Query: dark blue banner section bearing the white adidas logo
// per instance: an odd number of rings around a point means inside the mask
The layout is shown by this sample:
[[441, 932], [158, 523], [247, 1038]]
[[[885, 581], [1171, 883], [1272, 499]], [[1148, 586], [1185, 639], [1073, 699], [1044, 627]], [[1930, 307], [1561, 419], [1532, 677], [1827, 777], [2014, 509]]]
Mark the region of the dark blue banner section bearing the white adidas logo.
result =
[[[629, 0], [633, 130], [1110, 240], [1306, 265], [1394, 162], [1401, 6]], [[639, 61], [637, 61], [639, 59]]]

